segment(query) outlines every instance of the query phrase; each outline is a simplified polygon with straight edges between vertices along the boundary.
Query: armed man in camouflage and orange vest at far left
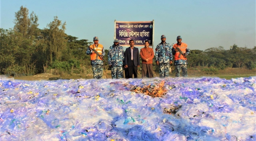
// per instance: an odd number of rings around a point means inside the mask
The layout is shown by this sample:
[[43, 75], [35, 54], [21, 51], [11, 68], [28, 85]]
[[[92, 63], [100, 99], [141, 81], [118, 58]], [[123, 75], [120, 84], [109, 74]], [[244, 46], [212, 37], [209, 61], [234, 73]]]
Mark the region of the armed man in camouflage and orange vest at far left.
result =
[[[93, 38], [94, 44], [90, 45], [86, 51], [87, 55], [91, 56], [91, 66], [93, 67], [93, 78], [101, 79], [103, 75], [103, 57], [105, 55], [105, 51], [102, 44], [99, 44], [99, 38]], [[95, 51], [97, 53], [95, 53]], [[98, 55], [99, 54], [99, 55]]]

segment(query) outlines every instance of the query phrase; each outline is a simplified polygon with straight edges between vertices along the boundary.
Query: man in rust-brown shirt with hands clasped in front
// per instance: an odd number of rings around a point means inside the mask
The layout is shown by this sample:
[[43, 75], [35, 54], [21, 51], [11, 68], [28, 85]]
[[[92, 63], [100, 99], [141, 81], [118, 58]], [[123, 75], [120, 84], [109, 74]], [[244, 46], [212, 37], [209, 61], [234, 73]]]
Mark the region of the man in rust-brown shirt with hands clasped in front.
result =
[[142, 60], [142, 74], [141, 77], [153, 78], [153, 58], [154, 51], [149, 47], [148, 40], [145, 41], [145, 47], [141, 49], [140, 53]]

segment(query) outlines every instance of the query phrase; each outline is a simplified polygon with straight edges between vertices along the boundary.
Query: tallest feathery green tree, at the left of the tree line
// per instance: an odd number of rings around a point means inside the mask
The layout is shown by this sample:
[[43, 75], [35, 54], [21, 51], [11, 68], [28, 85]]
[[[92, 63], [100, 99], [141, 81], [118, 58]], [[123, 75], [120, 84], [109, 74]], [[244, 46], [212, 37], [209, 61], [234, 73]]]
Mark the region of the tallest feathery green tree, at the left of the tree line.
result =
[[37, 28], [37, 21], [38, 17], [34, 12], [29, 17], [28, 8], [21, 6], [20, 10], [15, 12], [14, 32], [9, 35], [14, 50], [14, 66], [23, 68], [19, 69], [19, 72], [25, 74], [34, 73], [35, 62], [37, 61], [31, 59], [39, 43], [37, 37], [40, 32]]

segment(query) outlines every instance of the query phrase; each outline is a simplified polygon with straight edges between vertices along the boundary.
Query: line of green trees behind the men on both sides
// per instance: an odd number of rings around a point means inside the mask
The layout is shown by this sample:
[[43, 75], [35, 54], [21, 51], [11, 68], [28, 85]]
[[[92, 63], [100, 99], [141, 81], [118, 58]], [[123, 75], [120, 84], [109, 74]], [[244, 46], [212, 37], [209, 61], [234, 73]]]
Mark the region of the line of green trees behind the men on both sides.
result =
[[[91, 73], [90, 56], [86, 50], [92, 42], [65, 33], [66, 23], [57, 16], [44, 29], [38, 28], [38, 16], [21, 6], [15, 12], [14, 27], [0, 28], [0, 73], [32, 75], [45, 73], [47, 69], [71, 74]], [[108, 50], [105, 48], [106, 54]], [[107, 59], [107, 55], [105, 55]], [[256, 46], [250, 49], [236, 44], [225, 50], [213, 47], [191, 50], [187, 56], [189, 67], [203, 67], [206, 71], [218, 71], [227, 67], [256, 68]], [[104, 64], [105, 71], [108, 64]], [[157, 71], [157, 66], [154, 65]]]

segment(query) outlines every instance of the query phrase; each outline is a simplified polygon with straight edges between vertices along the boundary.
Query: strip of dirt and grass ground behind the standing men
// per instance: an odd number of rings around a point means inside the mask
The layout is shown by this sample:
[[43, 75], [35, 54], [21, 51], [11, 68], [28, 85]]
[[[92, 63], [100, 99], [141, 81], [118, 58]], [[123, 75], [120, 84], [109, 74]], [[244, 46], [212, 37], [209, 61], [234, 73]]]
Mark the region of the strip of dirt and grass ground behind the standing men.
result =
[[[198, 69], [188, 69], [189, 77], [200, 77], [200, 76], [209, 76], [209, 77], [220, 77], [222, 75], [230, 75], [234, 77], [243, 77], [243, 76], [256, 76], [256, 70], [248, 70], [245, 68], [226, 68], [224, 70], [219, 70], [218, 74], [207, 74], [206, 72], [200, 71]], [[159, 73], [154, 72], [155, 77], [159, 77]], [[174, 70], [170, 73], [171, 77], [175, 76]], [[17, 80], [58, 80], [58, 79], [91, 79], [93, 78], [92, 74], [87, 75], [70, 75], [70, 74], [62, 74], [62, 75], [54, 75], [54, 74], [36, 74], [32, 76], [21, 76], [14, 77]], [[103, 73], [103, 78], [111, 78], [111, 71], [108, 70], [107, 73]], [[138, 73], [138, 78], [141, 78], [141, 73]]]

